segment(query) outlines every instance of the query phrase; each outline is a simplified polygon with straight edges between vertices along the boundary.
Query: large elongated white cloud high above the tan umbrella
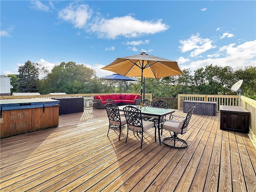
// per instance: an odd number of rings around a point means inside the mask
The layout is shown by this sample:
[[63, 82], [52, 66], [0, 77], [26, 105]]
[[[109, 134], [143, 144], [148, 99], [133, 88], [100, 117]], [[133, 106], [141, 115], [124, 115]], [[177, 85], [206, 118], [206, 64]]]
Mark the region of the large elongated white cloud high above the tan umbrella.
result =
[[115, 17], [112, 19], [98, 18], [91, 24], [89, 32], [96, 32], [99, 38], [115, 39], [118, 36], [135, 38], [147, 34], [155, 34], [168, 29], [168, 26], [157, 21], [140, 21], [132, 16]]

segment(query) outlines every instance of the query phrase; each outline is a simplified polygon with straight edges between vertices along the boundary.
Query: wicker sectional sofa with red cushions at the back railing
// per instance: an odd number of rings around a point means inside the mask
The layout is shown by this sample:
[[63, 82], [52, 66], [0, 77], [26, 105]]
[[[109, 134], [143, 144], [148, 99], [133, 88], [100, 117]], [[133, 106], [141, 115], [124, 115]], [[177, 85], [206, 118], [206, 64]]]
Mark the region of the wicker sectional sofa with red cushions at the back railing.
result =
[[105, 101], [107, 99], [113, 99], [116, 101], [116, 105], [139, 105], [140, 95], [139, 94], [109, 94], [109, 95], [95, 95], [92, 102], [96, 102], [97, 107], [100, 109], [105, 108]]

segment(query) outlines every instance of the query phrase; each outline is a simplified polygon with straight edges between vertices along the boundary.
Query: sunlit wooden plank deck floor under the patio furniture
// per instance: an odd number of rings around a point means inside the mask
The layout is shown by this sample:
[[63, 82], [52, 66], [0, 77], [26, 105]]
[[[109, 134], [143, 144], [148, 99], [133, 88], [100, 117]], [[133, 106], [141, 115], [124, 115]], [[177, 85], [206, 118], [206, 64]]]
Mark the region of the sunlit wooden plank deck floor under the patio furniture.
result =
[[[175, 114], [185, 116], [177, 110]], [[1, 139], [1, 192], [256, 191], [256, 150], [247, 134], [220, 130], [219, 115], [194, 114], [188, 148], [126, 128], [108, 131], [106, 110], [59, 117], [59, 126]], [[168, 135], [164, 131], [162, 138]]]

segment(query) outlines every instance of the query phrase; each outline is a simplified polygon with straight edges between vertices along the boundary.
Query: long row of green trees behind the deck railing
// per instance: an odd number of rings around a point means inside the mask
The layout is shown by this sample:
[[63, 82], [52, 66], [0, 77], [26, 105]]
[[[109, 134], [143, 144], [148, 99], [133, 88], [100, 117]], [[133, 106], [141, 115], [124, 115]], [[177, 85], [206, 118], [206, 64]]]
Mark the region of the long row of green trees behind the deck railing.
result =
[[[177, 97], [178, 94], [237, 94], [223, 88], [244, 80], [242, 95], [256, 100], [256, 67], [232, 68], [231, 66], [209, 65], [198, 68], [191, 73], [190, 69], [182, 70], [184, 75], [169, 76], [160, 79], [145, 78], [145, 92], [154, 97]], [[81, 93], [113, 93], [140, 92], [140, 82], [123, 82], [101, 80], [96, 71], [84, 64], [62, 62], [51, 72], [42, 65], [31, 61], [19, 66], [18, 74], [9, 74], [12, 92], [65, 92]], [[40, 78], [40, 76], [44, 76]], [[138, 78], [140, 80], [140, 78]]]

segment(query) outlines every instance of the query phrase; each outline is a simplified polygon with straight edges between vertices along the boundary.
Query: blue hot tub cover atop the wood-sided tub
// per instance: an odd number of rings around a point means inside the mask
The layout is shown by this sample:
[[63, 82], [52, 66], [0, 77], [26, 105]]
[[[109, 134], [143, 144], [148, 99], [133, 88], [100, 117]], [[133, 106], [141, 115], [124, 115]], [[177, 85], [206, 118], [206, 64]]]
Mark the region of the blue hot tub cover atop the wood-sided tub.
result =
[[4, 99], [0, 100], [1, 111], [41, 108], [58, 105], [60, 101], [54, 99]]

